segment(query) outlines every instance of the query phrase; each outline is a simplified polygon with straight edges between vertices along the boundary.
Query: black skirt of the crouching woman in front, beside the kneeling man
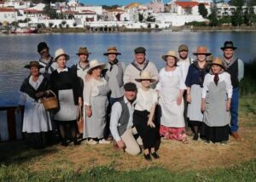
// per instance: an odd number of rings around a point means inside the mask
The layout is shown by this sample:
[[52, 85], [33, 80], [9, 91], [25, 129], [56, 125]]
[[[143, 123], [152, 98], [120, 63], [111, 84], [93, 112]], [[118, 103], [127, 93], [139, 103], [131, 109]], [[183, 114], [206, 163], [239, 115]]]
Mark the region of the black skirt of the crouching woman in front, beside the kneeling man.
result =
[[157, 128], [151, 128], [148, 126], [148, 111], [133, 112], [133, 124], [137, 129], [137, 133], [143, 139], [144, 149], [150, 149], [155, 147], [156, 140], [158, 139]]

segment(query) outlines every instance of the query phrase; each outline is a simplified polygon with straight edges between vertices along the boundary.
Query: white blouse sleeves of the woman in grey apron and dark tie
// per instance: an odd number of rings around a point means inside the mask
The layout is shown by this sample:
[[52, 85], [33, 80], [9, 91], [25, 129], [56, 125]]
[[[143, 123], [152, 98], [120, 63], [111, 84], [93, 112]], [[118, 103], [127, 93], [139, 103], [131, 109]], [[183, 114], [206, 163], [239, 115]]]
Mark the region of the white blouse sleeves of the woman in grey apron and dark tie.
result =
[[[223, 73], [218, 75], [218, 78], [219, 78], [218, 82], [224, 81], [226, 83], [226, 93], [228, 94], [228, 98], [232, 98], [233, 87], [231, 84], [230, 74], [224, 71]], [[207, 73], [204, 80], [203, 89], [202, 89], [202, 96], [201, 96], [202, 99], [205, 99], [207, 96], [207, 91], [209, 90], [208, 86], [210, 82], [214, 82], [214, 75]]]

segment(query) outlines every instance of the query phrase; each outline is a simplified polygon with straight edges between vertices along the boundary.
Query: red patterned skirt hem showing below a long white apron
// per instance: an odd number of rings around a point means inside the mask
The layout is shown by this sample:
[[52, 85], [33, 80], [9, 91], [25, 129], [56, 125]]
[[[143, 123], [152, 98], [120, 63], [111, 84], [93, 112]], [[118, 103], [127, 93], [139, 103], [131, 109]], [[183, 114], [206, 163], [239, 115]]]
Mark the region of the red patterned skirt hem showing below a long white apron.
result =
[[181, 141], [187, 138], [185, 127], [172, 128], [160, 125], [160, 135], [165, 139], [175, 139]]

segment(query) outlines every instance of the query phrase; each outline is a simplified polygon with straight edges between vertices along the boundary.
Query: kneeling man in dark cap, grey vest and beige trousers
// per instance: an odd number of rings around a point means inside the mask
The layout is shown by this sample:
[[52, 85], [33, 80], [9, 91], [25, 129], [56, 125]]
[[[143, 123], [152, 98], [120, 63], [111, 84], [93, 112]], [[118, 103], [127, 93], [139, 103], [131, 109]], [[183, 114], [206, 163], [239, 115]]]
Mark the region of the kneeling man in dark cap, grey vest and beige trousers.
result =
[[110, 130], [113, 139], [116, 141], [119, 149], [125, 150], [131, 155], [140, 153], [140, 147], [134, 134], [137, 134], [136, 128], [133, 127], [133, 111], [137, 96], [137, 86], [135, 83], [127, 82], [124, 85], [125, 93], [123, 100], [113, 104]]

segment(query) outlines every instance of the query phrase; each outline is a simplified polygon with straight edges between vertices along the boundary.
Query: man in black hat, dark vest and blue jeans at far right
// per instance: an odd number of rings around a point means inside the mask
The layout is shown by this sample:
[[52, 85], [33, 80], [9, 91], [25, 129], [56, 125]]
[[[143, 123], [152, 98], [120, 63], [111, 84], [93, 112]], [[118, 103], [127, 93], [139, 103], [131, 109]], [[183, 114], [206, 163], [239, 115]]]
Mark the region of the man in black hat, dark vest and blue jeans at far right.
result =
[[241, 140], [241, 136], [238, 134], [238, 105], [239, 105], [239, 82], [243, 78], [244, 65], [242, 60], [234, 56], [236, 47], [233, 42], [226, 41], [221, 48], [224, 52], [224, 66], [226, 71], [230, 73], [231, 83], [233, 86], [233, 94], [231, 99], [230, 113], [230, 132], [236, 140]]

